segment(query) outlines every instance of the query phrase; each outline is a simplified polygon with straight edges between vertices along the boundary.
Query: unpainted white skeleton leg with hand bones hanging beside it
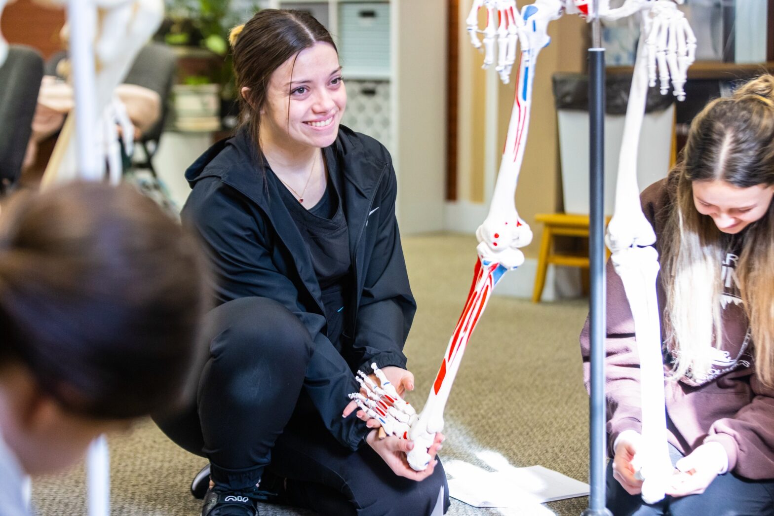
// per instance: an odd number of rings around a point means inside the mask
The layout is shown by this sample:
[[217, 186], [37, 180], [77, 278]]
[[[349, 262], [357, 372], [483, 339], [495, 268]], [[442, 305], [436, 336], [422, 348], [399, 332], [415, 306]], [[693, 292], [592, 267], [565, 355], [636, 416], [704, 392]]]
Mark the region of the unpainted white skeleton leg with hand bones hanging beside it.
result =
[[[632, 309], [640, 361], [640, 395], [642, 405], [642, 443], [635, 456], [638, 476], [644, 480], [642, 499], [656, 503], [665, 496], [673, 472], [667, 449], [666, 408], [664, 401], [664, 367], [661, 350], [659, 306], [656, 299], [656, 275], [659, 272], [658, 253], [651, 225], [642, 214], [637, 185], [637, 148], [639, 132], [646, 108], [648, 84], [655, 86], [656, 65], [659, 67], [661, 92], [668, 91], [670, 75], [676, 96], [684, 98], [682, 90], [687, 67], [693, 60], [695, 38], [690, 27], [683, 28], [685, 19], [672, 0], [632, 0], [627, 6], [639, 5], [642, 10], [641, 33], [632, 87], [624, 124], [621, 154], [618, 159], [618, 181], [615, 191], [615, 214], [608, 225], [607, 244], [615, 272], [621, 277], [626, 298]], [[628, 12], [628, 11], [626, 11]], [[615, 14], [611, 12], [610, 14]], [[687, 22], [686, 25], [687, 26]], [[681, 38], [675, 41], [676, 38]], [[658, 40], [656, 56], [653, 41]], [[664, 42], [670, 56], [663, 56]], [[676, 56], [675, 49], [680, 49]], [[666, 90], [665, 90], [666, 85]]]

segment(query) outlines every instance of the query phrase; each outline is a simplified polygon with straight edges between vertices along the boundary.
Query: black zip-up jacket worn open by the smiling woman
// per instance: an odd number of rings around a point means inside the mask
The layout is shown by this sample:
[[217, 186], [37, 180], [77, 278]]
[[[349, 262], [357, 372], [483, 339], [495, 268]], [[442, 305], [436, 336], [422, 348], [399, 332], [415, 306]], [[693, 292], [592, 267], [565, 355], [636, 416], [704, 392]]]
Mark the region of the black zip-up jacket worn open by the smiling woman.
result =
[[[275, 182], [266, 181], [248, 132], [217, 142], [186, 172], [193, 191], [183, 222], [203, 239], [214, 265], [217, 302], [246, 296], [274, 299], [307, 326], [313, 354], [304, 387], [325, 425], [356, 449], [368, 429], [341, 417], [353, 371], [406, 367], [402, 349], [416, 311], [395, 216], [396, 175], [375, 139], [341, 126], [324, 149], [343, 176], [341, 202], [349, 230], [354, 286], [339, 347], [326, 337], [320, 285], [311, 257]], [[260, 314], [255, 314], [259, 317]]]

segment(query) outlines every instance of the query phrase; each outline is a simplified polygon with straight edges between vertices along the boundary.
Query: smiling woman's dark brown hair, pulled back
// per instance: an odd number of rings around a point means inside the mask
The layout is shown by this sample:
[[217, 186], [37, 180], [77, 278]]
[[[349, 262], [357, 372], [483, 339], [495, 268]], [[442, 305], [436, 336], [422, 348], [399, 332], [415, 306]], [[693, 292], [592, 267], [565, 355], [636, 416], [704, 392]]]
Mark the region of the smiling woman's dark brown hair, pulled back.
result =
[[[315, 43], [330, 43], [330, 32], [308, 12], [264, 9], [244, 26], [235, 27], [229, 37], [234, 54], [236, 90], [239, 95], [240, 125], [247, 125], [256, 145], [259, 143], [261, 109], [274, 70], [301, 50]], [[243, 87], [250, 89], [247, 97]]]

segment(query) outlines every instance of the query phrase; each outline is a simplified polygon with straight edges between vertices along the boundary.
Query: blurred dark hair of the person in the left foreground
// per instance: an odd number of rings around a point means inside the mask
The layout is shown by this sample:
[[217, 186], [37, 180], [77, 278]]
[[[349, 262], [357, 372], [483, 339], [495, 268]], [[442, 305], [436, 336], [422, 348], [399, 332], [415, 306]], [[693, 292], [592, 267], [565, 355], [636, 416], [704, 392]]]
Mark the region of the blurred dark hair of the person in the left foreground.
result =
[[71, 183], [0, 214], [0, 366], [64, 408], [128, 419], [179, 401], [209, 296], [194, 237], [130, 186]]

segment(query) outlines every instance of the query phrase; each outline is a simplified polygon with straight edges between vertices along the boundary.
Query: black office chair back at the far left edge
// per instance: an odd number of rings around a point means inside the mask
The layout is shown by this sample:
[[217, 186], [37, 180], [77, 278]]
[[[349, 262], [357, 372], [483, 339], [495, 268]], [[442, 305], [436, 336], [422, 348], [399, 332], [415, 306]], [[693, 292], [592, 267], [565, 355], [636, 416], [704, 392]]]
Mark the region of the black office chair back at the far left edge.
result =
[[42, 79], [43, 57], [12, 45], [0, 67], [0, 193], [12, 189], [22, 173]]

